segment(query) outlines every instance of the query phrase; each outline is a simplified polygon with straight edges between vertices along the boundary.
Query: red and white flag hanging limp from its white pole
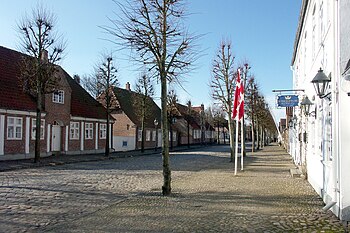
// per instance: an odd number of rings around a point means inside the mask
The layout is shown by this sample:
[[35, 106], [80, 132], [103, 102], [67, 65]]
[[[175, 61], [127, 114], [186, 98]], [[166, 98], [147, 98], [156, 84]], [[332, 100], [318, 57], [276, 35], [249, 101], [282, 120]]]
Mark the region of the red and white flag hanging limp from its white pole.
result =
[[244, 86], [241, 80], [241, 71], [237, 70], [235, 99], [233, 102], [232, 119], [241, 120], [244, 115]]

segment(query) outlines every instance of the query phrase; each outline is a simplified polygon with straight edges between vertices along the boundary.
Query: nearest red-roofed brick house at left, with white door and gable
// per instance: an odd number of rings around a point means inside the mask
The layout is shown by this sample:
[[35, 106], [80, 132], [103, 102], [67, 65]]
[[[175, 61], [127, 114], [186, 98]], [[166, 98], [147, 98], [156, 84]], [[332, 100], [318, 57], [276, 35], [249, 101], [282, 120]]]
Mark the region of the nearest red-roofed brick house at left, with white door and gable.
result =
[[[24, 55], [0, 46], [0, 160], [34, 157], [35, 99], [19, 83]], [[102, 152], [105, 108], [58, 66], [57, 91], [43, 103], [41, 156]]]

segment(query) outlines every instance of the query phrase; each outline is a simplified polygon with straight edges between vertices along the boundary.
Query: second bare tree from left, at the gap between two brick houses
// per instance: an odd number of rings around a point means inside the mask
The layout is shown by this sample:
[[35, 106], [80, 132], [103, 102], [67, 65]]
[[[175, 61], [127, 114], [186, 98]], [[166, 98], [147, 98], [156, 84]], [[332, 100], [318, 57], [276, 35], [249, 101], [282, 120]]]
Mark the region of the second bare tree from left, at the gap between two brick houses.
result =
[[112, 111], [115, 96], [113, 87], [118, 86], [117, 69], [113, 65], [112, 55], [102, 55], [101, 61], [96, 66], [97, 88], [100, 93], [99, 100], [106, 108], [106, 146], [105, 156], [109, 156], [110, 148], [110, 113]]

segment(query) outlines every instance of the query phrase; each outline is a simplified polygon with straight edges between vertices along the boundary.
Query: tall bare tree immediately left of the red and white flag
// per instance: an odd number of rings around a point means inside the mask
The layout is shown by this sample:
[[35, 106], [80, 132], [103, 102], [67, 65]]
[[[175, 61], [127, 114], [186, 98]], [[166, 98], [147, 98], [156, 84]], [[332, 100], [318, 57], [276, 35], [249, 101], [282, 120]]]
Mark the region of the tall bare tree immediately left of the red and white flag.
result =
[[223, 110], [228, 115], [228, 128], [230, 133], [230, 162], [234, 158], [234, 125], [232, 120], [232, 101], [234, 97], [234, 85], [236, 72], [234, 69], [234, 59], [232, 55], [231, 43], [221, 42], [219, 51], [213, 61], [211, 91], [215, 101], [222, 105]]

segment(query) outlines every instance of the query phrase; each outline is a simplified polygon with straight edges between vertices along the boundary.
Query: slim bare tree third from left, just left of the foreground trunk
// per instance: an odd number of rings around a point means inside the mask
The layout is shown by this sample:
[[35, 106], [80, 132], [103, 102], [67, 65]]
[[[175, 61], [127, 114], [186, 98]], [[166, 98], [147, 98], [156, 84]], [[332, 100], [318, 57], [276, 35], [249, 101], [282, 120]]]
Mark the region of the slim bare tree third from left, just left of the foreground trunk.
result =
[[139, 94], [134, 98], [134, 106], [136, 109], [136, 116], [141, 122], [141, 152], [145, 150], [145, 120], [152, 116], [149, 108], [152, 104], [152, 97], [154, 96], [154, 87], [152, 80], [146, 74], [141, 75], [136, 81], [135, 92]]

